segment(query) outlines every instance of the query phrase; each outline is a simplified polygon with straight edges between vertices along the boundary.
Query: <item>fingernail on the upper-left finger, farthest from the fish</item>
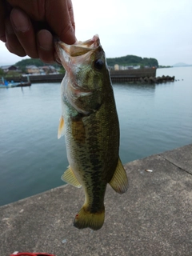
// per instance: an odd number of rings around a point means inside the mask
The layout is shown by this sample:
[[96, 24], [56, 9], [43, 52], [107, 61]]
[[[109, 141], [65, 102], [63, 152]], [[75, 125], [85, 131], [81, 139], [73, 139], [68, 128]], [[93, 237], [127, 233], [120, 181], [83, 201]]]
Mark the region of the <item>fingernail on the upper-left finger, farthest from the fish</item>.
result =
[[30, 20], [22, 10], [14, 8], [11, 11], [10, 18], [14, 24], [15, 30], [24, 33], [30, 29]]

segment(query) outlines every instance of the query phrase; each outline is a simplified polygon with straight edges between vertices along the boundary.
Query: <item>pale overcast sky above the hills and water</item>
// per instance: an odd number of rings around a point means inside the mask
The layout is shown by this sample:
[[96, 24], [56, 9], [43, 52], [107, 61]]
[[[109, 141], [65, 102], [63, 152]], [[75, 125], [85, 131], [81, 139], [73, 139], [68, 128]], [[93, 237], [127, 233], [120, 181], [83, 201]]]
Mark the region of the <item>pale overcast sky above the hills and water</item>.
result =
[[[157, 58], [159, 65], [192, 64], [191, 0], [72, 0], [76, 37], [98, 34], [107, 58], [128, 54]], [[0, 42], [0, 65], [22, 58]]]

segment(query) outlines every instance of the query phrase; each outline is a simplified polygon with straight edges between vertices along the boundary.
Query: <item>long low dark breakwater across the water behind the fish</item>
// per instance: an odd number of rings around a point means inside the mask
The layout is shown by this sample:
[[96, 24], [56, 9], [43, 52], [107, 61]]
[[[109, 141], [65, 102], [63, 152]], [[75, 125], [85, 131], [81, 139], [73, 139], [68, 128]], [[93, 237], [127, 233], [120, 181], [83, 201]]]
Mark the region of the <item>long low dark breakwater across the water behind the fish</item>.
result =
[[[31, 83], [43, 82], [62, 82], [64, 74], [46, 74], [46, 75], [29, 75]], [[156, 69], [138, 69], [138, 70], [110, 70], [110, 77], [112, 82], [138, 82], [138, 83], [159, 83], [159, 82], [173, 82], [174, 77], [162, 76], [156, 78]], [[14, 82], [26, 82], [27, 77], [11, 77], [7, 80]]]

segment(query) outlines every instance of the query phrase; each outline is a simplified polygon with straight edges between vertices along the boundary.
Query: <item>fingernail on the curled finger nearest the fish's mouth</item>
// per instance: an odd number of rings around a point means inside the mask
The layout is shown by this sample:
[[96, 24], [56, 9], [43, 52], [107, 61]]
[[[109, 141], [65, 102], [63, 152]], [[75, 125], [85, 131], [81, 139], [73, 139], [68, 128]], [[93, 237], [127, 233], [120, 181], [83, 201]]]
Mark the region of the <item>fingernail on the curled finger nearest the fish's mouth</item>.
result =
[[43, 50], [53, 49], [53, 36], [48, 30], [40, 30], [38, 32], [38, 46]]

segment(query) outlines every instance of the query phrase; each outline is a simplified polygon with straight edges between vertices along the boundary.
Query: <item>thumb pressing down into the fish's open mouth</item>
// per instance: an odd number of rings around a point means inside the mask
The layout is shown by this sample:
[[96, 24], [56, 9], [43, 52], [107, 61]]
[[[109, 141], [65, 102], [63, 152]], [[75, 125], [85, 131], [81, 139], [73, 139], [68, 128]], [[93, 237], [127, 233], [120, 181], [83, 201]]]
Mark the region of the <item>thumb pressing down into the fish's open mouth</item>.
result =
[[74, 44], [76, 38], [70, 18], [73, 9], [71, 4], [69, 11], [68, 5], [70, 5], [69, 0], [58, 0], [57, 5], [55, 5], [54, 1], [46, 1], [46, 21], [63, 42]]

